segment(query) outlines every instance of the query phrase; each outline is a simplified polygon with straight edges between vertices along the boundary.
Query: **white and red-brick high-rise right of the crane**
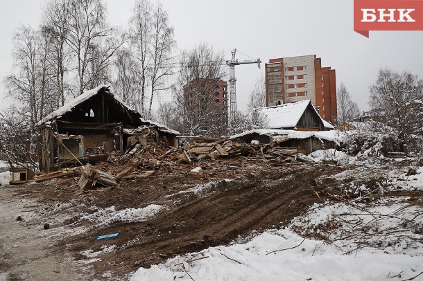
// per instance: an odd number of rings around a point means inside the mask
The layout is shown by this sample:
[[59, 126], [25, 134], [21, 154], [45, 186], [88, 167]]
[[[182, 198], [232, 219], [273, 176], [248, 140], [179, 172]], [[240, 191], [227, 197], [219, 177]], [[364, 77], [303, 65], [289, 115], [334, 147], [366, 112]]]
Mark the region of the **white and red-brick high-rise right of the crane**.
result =
[[320, 116], [336, 124], [335, 69], [322, 67], [320, 57], [303, 55], [266, 64], [266, 105], [311, 100]]

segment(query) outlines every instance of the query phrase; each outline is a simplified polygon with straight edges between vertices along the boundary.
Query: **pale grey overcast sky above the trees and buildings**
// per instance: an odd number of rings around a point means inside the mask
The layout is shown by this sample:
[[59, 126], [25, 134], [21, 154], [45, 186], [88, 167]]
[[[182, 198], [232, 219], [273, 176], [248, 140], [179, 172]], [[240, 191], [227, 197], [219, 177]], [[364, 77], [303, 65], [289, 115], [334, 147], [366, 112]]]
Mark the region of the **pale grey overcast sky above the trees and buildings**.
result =
[[[46, 0], [0, 0], [0, 80], [10, 73], [11, 40], [21, 25], [40, 24]], [[107, 21], [126, 27], [134, 0], [106, 0]], [[368, 109], [368, 87], [381, 67], [411, 71], [423, 78], [423, 31], [370, 31], [370, 38], [353, 30], [353, 0], [162, 0], [175, 28], [179, 50], [208, 42], [229, 60], [237, 48], [239, 60], [260, 57], [317, 55], [322, 66], [336, 69], [336, 84], [344, 82], [353, 100]], [[246, 55], [243, 55], [246, 54]], [[250, 57], [248, 57], [248, 56]], [[236, 95], [245, 109], [264, 64], [236, 66]], [[5, 96], [0, 87], [0, 98]], [[166, 96], [162, 100], [168, 100]]]

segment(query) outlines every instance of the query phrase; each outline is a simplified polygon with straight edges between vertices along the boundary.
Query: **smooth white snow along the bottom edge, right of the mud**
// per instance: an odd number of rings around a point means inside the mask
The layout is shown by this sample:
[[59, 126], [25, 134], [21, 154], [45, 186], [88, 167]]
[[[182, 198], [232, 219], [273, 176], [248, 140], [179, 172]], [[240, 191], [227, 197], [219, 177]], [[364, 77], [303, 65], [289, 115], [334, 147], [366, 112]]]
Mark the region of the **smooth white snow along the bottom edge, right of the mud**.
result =
[[[343, 255], [333, 244], [302, 240], [292, 230], [268, 230], [245, 244], [212, 247], [199, 255], [175, 257], [150, 269], [141, 268], [130, 280], [191, 280], [192, 277], [192, 280], [231, 281], [379, 281], [392, 280], [387, 276], [400, 272], [403, 278], [411, 278], [423, 271], [422, 256], [384, 253], [378, 249]], [[287, 250], [277, 251], [282, 249]], [[205, 258], [187, 262], [201, 257]]]

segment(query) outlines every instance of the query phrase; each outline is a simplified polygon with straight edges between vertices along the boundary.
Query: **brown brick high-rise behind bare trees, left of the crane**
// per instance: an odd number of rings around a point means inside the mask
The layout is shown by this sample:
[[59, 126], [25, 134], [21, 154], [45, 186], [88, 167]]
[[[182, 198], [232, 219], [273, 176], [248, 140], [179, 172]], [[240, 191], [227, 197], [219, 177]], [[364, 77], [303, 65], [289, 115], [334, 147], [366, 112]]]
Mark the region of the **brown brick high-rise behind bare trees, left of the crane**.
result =
[[227, 82], [221, 79], [196, 78], [184, 86], [187, 118], [198, 125], [198, 132], [227, 134], [227, 102]]

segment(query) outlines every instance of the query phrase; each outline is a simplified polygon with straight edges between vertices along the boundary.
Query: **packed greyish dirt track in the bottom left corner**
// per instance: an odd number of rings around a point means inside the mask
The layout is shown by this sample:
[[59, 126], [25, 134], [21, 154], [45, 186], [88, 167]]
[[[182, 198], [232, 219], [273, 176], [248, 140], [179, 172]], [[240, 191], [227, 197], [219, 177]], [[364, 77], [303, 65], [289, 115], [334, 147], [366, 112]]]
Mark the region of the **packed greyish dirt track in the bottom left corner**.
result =
[[90, 270], [70, 255], [53, 251], [56, 239], [49, 237], [43, 219], [28, 208], [38, 204], [15, 195], [15, 191], [16, 187], [0, 188], [0, 280], [78, 280], [89, 276]]

